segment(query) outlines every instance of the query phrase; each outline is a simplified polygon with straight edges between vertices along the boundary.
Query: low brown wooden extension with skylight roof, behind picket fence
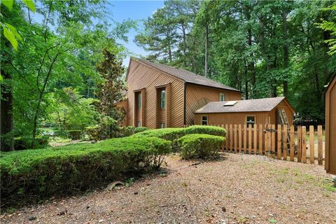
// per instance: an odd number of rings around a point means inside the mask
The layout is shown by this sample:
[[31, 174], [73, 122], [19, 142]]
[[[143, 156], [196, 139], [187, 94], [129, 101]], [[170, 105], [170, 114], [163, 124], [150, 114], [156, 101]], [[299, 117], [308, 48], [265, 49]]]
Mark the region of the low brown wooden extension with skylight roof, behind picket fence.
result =
[[288, 124], [294, 110], [285, 97], [209, 102], [195, 112], [196, 125]]

